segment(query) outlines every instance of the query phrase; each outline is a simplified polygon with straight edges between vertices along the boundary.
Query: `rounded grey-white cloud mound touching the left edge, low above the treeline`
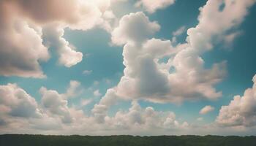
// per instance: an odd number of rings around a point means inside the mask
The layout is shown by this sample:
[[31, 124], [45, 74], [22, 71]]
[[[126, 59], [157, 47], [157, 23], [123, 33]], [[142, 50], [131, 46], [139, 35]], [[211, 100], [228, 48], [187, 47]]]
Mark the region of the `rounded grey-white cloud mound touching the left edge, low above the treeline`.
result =
[[16, 84], [0, 85], [0, 129], [17, 130], [31, 119], [42, 119], [37, 101]]

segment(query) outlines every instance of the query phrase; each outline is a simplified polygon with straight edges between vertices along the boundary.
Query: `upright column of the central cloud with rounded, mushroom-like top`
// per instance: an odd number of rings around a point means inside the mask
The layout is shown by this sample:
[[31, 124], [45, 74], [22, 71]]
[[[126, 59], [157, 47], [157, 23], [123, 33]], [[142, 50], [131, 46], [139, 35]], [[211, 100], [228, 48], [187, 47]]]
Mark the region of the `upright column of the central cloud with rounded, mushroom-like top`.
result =
[[143, 12], [125, 15], [114, 29], [113, 43], [126, 43], [123, 50], [124, 77], [115, 89], [118, 96], [136, 98], [168, 92], [166, 72], [159, 69], [157, 61], [176, 50], [168, 40], [148, 39], [158, 30], [159, 25], [148, 20]]

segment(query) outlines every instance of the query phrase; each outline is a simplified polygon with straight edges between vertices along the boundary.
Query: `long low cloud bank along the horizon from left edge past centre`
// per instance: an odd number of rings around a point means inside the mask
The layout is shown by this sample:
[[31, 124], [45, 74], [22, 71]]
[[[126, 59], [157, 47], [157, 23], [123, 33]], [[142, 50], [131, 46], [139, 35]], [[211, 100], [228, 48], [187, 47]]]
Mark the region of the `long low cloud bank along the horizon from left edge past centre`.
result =
[[[189, 128], [187, 122], [178, 122], [173, 112], [157, 112], [153, 107], [142, 108], [137, 101], [132, 101], [128, 111], [118, 110], [113, 117], [106, 115], [104, 121], [98, 123], [94, 115], [87, 116], [83, 110], [68, 105], [69, 100], [65, 96], [74, 84], [77, 85], [77, 82], [70, 82], [66, 93], [40, 88], [39, 93], [42, 98], [38, 103], [16, 84], [1, 85], [1, 132], [71, 130], [72, 133], [75, 131], [76, 134], [85, 134], [84, 132], [91, 132], [95, 128], [99, 131]], [[86, 99], [82, 101], [83, 106], [91, 102]]]

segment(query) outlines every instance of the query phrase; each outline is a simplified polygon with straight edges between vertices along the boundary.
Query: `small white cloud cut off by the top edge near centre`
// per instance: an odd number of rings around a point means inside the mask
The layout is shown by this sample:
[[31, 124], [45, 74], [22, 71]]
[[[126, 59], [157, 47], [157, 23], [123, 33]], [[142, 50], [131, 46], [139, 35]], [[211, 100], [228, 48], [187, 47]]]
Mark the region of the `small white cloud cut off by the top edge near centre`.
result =
[[157, 9], [164, 9], [175, 3], [176, 0], [139, 0], [135, 3], [136, 7], [143, 7], [147, 12], [153, 13]]

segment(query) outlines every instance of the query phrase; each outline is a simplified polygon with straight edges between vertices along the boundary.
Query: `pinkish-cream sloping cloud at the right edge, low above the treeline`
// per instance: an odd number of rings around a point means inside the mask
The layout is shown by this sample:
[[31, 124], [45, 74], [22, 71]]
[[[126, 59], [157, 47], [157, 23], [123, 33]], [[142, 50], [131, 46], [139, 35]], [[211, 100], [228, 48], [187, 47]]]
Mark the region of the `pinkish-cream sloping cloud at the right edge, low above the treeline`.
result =
[[256, 126], [256, 75], [252, 88], [244, 96], [234, 96], [227, 106], [222, 106], [216, 119], [221, 126]]

